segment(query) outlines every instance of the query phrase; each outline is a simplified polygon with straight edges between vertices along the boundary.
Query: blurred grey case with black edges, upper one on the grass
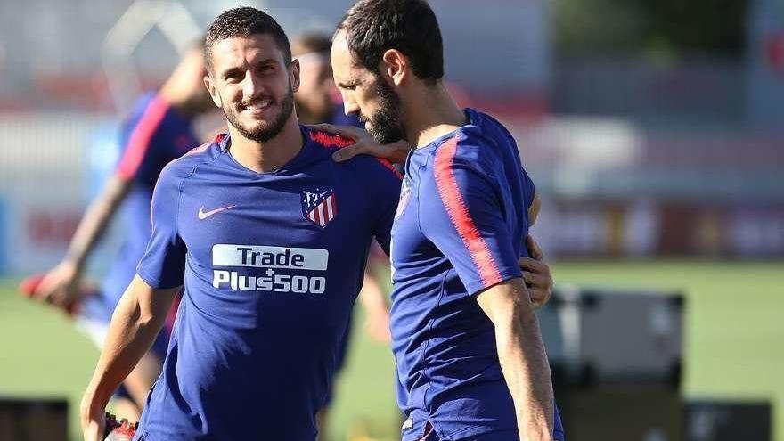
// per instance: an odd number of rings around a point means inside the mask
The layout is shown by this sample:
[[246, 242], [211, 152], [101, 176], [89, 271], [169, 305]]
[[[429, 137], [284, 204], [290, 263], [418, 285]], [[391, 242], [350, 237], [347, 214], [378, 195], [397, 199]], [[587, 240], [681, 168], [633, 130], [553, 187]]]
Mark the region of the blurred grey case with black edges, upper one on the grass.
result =
[[556, 387], [650, 384], [677, 391], [682, 295], [567, 287], [539, 311]]

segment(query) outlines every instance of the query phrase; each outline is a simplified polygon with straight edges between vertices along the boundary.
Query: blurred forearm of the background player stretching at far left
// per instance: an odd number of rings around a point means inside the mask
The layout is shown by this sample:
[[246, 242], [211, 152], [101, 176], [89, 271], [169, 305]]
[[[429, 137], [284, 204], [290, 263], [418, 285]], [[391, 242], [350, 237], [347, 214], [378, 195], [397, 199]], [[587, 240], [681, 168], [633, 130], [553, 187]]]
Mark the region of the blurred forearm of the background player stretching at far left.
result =
[[65, 257], [78, 269], [84, 267], [90, 251], [105, 233], [111, 218], [125, 199], [129, 185], [117, 176], [111, 177], [101, 194], [87, 208]]

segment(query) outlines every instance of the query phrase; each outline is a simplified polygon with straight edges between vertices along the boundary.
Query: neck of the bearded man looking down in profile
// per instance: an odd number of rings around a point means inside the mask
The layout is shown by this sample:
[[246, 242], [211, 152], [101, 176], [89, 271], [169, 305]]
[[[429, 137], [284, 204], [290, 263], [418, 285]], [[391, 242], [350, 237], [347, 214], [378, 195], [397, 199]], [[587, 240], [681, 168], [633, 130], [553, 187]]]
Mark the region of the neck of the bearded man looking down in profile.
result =
[[409, 143], [424, 147], [437, 137], [446, 135], [468, 121], [460, 106], [452, 99], [444, 83], [436, 86], [423, 83], [412, 85], [414, 99], [402, 102], [402, 123]]

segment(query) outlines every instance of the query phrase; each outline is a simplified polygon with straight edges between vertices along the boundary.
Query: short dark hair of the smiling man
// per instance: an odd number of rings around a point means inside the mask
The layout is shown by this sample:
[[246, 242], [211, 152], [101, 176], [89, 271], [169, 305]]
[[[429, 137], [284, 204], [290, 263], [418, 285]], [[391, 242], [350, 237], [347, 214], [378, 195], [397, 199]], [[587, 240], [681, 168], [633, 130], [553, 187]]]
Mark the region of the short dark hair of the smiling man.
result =
[[267, 34], [274, 38], [275, 44], [283, 53], [283, 62], [291, 63], [291, 46], [289, 37], [283, 32], [281, 25], [268, 13], [250, 6], [229, 9], [213, 20], [204, 37], [204, 60], [208, 72], [212, 72], [212, 46], [216, 42], [232, 37], [249, 37], [255, 34]]

